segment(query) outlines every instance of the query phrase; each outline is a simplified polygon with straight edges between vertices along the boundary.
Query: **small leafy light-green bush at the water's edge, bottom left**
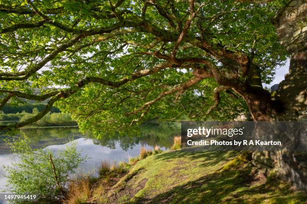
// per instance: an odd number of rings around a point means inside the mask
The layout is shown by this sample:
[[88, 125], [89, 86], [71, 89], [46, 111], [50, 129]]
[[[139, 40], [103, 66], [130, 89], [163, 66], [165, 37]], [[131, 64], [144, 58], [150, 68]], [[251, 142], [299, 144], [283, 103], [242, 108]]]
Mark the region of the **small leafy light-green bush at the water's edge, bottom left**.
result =
[[15, 194], [36, 194], [40, 203], [46, 200], [60, 202], [65, 197], [69, 176], [88, 158], [81, 156], [77, 143], [73, 141], [57, 151], [33, 149], [28, 138], [8, 141], [8, 144], [19, 159], [4, 166], [8, 174], [4, 190]]

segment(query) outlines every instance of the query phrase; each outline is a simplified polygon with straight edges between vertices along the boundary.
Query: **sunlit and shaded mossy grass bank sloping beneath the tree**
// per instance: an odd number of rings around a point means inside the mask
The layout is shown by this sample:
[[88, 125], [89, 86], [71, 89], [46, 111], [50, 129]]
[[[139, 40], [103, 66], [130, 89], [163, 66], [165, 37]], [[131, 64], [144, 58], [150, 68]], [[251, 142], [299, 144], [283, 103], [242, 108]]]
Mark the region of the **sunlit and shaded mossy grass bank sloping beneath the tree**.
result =
[[134, 159], [116, 184], [96, 193], [100, 202], [89, 196], [79, 203], [306, 203], [305, 193], [291, 190], [273, 174], [263, 176], [237, 152], [149, 154]]

